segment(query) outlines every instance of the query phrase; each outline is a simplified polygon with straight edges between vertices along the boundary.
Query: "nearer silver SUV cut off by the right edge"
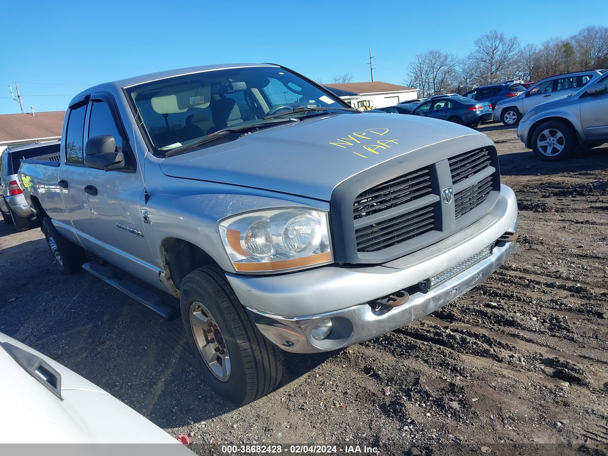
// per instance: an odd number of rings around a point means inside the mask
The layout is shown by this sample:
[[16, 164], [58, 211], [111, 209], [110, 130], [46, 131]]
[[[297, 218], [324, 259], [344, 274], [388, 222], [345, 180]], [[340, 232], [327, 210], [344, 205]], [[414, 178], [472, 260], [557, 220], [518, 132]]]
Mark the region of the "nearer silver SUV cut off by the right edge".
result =
[[517, 137], [544, 161], [565, 159], [577, 145], [608, 142], [608, 74], [526, 112]]

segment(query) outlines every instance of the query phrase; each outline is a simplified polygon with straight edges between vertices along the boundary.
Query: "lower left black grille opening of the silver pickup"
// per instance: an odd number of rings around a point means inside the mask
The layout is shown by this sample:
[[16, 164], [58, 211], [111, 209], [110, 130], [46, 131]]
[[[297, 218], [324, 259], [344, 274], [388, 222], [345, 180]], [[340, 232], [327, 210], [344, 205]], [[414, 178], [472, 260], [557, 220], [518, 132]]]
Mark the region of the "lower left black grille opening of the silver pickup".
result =
[[405, 213], [355, 230], [357, 250], [376, 252], [435, 229], [433, 206]]

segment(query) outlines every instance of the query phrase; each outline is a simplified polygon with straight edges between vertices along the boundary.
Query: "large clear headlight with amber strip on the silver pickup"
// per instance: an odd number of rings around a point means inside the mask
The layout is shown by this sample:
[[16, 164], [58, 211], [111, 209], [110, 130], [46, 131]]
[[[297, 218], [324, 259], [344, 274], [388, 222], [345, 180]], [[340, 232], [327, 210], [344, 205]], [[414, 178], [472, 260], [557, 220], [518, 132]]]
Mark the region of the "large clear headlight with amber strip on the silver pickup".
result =
[[283, 208], [247, 212], [219, 223], [237, 272], [291, 271], [333, 263], [328, 214]]

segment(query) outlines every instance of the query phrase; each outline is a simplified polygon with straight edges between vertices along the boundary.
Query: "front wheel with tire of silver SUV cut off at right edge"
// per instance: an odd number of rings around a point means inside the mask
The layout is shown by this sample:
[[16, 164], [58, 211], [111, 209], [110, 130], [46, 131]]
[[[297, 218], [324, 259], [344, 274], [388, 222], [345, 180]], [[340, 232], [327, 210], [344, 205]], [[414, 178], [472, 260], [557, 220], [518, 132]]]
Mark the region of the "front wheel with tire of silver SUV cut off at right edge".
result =
[[540, 125], [532, 136], [534, 154], [545, 162], [566, 159], [575, 148], [576, 136], [570, 126], [550, 120]]

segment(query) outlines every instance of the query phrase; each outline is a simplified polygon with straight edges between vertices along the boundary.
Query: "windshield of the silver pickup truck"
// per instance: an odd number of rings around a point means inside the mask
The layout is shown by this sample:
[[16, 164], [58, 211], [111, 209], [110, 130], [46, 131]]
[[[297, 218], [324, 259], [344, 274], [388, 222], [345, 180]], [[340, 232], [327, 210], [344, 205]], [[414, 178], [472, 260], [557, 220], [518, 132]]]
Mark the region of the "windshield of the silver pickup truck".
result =
[[[336, 95], [274, 66], [205, 71], [126, 90], [158, 153], [184, 147], [224, 128], [270, 124], [264, 117], [300, 106], [348, 106]], [[310, 112], [302, 110], [289, 117]]]

